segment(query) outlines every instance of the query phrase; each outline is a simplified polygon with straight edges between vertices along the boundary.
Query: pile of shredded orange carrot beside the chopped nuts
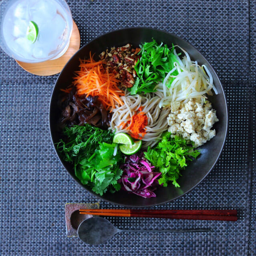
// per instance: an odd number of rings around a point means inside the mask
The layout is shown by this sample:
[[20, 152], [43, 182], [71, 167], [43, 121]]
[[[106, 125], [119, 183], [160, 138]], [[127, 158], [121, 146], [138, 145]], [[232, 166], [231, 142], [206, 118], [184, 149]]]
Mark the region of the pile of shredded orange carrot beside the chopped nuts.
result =
[[103, 61], [94, 61], [90, 52], [90, 59], [80, 59], [80, 70], [73, 78], [79, 95], [98, 96], [99, 100], [109, 111], [112, 111], [115, 103], [123, 105], [120, 99], [124, 92], [117, 87], [117, 80], [112, 73], [105, 69]]

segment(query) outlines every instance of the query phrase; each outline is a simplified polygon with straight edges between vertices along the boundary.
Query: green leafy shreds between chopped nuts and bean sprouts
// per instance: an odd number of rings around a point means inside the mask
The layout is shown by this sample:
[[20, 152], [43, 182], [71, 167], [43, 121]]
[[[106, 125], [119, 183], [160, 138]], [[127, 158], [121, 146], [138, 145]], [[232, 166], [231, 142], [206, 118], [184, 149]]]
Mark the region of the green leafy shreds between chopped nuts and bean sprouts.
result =
[[[154, 92], [157, 83], [166, 77], [166, 74], [174, 68], [174, 62], [177, 61], [173, 53], [174, 46], [169, 49], [166, 44], [159, 45], [153, 39], [152, 42], [144, 43], [140, 48], [141, 57], [134, 67], [137, 79], [134, 86], [128, 89], [131, 95]], [[177, 74], [177, 70], [172, 73], [172, 75]], [[169, 79], [167, 86], [171, 82], [172, 79]]]

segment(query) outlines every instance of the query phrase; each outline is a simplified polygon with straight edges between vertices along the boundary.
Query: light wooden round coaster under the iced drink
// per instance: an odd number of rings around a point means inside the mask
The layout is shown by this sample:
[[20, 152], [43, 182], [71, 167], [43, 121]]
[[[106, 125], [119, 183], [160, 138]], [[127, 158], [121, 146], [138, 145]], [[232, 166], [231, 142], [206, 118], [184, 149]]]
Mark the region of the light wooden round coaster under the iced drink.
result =
[[22, 61], [17, 61], [24, 70], [29, 73], [38, 76], [51, 76], [60, 73], [67, 61], [79, 50], [80, 48], [80, 33], [76, 23], [73, 20], [73, 29], [70, 38], [70, 45], [67, 52], [64, 53], [60, 58], [50, 61], [43, 61], [38, 63], [26, 63]]

